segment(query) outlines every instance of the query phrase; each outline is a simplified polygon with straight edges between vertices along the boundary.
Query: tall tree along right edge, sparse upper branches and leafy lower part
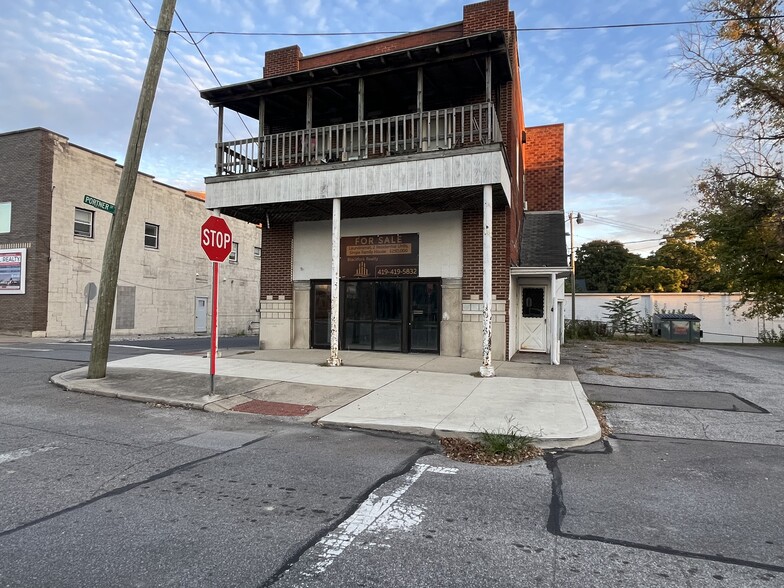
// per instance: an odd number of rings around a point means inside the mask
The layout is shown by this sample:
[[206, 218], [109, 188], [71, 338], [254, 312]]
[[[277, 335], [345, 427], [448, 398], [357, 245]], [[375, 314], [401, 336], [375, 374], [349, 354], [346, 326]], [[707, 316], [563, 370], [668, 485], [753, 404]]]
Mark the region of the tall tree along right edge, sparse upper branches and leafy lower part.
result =
[[784, 11], [780, 0], [703, 0], [698, 12], [704, 23], [682, 37], [680, 67], [715, 87], [737, 124], [729, 165], [706, 170], [686, 216], [715, 242], [745, 314], [784, 314]]

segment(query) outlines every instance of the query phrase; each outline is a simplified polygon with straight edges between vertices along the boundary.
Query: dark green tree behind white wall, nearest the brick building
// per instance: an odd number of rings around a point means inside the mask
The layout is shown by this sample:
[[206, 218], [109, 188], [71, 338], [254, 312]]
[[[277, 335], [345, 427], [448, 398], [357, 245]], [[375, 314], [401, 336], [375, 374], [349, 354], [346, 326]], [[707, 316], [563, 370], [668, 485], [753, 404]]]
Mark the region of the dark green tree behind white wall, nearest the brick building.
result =
[[630, 263], [641, 263], [639, 255], [629, 252], [618, 241], [594, 240], [581, 245], [575, 253], [576, 278], [584, 279], [592, 292], [623, 292], [621, 275]]

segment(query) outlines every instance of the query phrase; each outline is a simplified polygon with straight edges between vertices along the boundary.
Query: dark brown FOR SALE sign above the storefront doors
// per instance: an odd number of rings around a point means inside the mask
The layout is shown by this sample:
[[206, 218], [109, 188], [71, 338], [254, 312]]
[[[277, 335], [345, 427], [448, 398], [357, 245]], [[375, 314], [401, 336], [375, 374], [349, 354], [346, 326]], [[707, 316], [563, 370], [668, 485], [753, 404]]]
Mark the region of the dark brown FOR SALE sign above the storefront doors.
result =
[[415, 278], [418, 275], [418, 233], [340, 239], [342, 278]]

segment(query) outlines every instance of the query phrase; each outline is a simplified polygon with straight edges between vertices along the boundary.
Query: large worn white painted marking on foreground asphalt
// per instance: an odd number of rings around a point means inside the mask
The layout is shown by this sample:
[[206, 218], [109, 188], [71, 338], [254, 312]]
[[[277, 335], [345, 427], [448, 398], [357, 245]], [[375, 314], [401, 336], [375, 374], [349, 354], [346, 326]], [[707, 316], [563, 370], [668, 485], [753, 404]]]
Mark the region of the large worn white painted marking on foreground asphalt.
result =
[[[309, 569], [304, 570], [302, 575], [312, 578], [324, 572], [365, 531], [408, 531], [418, 525], [422, 521], [425, 509], [415, 505], [398, 504], [398, 500], [422, 474], [429, 471], [436, 474], [456, 474], [457, 468], [418, 463], [406, 475], [402, 484], [389, 495], [378, 496], [375, 492], [371, 493], [354, 514], [314, 546], [317, 561]], [[361, 547], [367, 549], [374, 545], [388, 547], [376, 543], [367, 543]]]

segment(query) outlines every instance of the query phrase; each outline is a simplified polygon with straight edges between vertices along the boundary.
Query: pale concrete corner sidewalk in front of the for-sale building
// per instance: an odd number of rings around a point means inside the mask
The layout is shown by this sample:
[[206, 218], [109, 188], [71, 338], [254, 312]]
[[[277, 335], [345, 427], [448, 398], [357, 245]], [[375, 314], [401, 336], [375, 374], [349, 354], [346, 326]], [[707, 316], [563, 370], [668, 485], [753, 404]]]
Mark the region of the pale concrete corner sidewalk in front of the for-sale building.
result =
[[80, 368], [52, 381], [77, 392], [325, 426], [437, 436], [514, 428], [547, 448], [601, 436], [570, 366], [499, 362], [496, 377], [481, 378], [473, 359], [365, 352], [341, 357], [339, 368], [324, 365], [323, 350], [218, 358], [214, 395], [209, 359], [201, 355], [152, 353], [110, 362], [100, 380], [87, 380], [86, 368]]

